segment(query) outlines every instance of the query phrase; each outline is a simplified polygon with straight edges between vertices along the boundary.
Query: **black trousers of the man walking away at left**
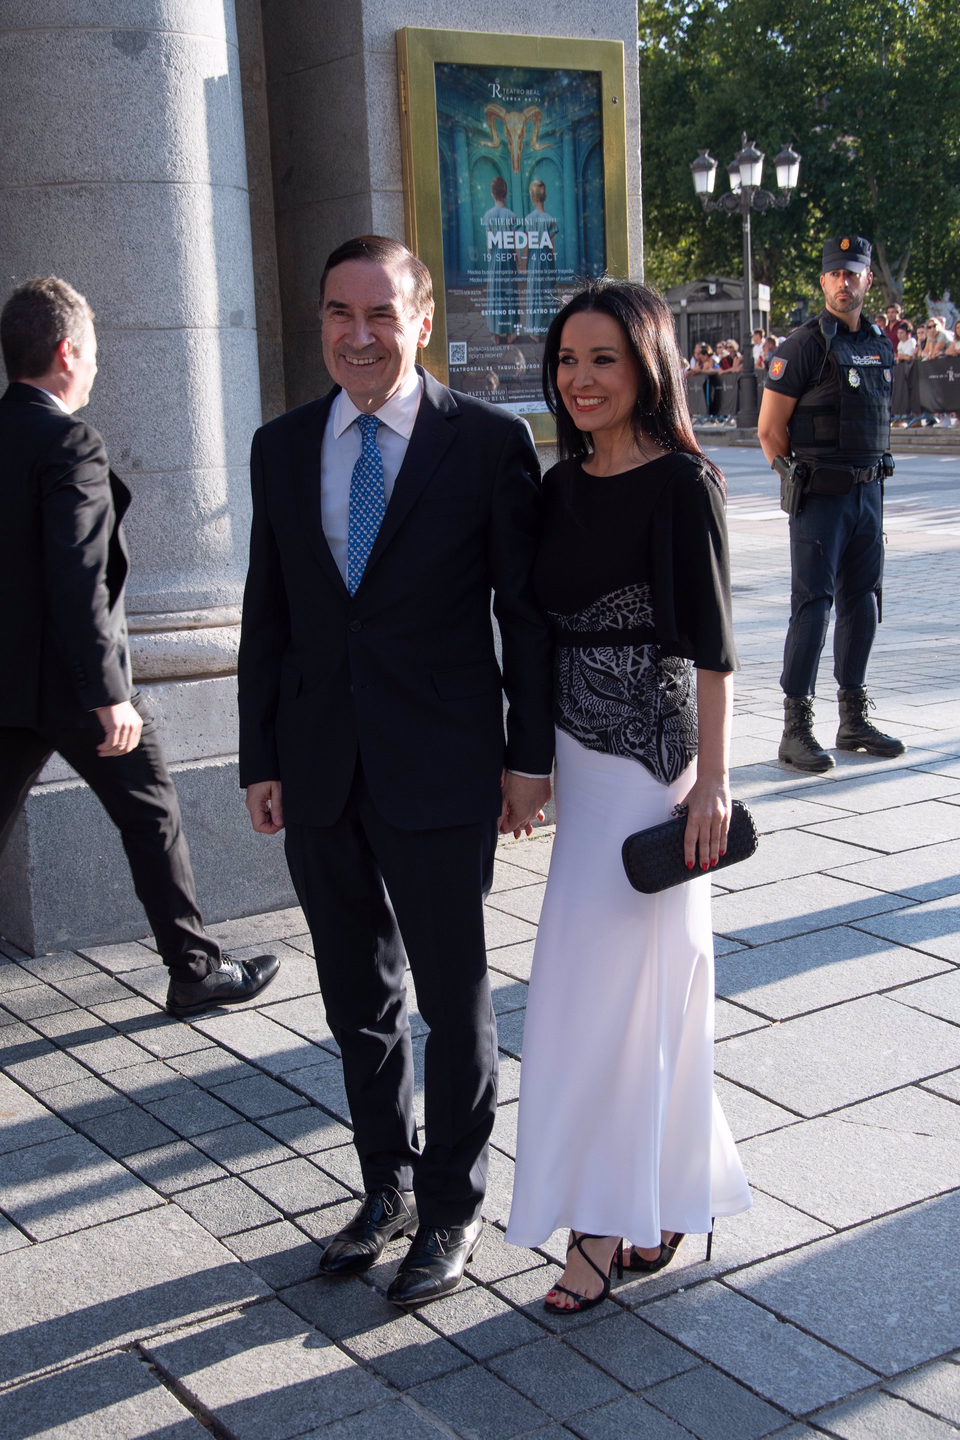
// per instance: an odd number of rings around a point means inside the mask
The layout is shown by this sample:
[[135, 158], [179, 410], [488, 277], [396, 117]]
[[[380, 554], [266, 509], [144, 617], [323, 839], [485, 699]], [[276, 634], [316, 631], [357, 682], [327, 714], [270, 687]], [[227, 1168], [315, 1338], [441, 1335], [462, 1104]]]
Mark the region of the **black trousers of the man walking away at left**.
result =
[[144, 700], [134, 696], [132, 703], [144, 719], [140, 744], [130, 755], [108, 759], [96, 753], [104, 732], [95, 716], [83, 729], [0, 727], [0, 851], [30, 786], [58, 750], [86, 780], [117, 825], [137, 899], [171, 975], [184, 981], [201, 979], [210, 960], [219, 959], [220, 946], [203, 930], [177, 792], [157, 727]]

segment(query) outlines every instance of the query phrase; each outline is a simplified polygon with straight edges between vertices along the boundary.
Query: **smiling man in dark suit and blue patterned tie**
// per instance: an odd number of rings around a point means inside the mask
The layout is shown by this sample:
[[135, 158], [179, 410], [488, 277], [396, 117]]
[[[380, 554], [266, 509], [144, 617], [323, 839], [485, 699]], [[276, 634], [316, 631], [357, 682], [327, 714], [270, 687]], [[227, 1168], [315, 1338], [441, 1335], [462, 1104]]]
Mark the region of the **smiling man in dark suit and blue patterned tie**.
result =
[[[522, 420], [415, 366], [433, 298], [406, 246], [340, 246], [321, 310], [335, 389], [253, 438], [240, 783], [255, 829], [286, 827], [364, 1176], [321, 1273], [416, 1230], [389, 1296], [417, 1305], [479, 1241], [497, 1104], [482, 901], [498, 825], [528, 829], [550, 796], [540, 469]], [[430, 1028], [422, 1152], [407, 958]]]

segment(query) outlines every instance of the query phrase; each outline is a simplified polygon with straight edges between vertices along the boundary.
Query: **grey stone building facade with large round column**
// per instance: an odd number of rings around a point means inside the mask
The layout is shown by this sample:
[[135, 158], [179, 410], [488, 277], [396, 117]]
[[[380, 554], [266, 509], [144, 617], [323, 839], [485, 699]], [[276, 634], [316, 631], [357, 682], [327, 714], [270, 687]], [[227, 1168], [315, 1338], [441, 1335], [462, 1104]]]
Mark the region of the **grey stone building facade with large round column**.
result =
[[[294, 903], [282, 841], [253, 835], [237, 789], [249, 445], [330, 384], [330, 251], [404, 236], [396, 32], [410, 24], [623, 42], [639, 275], [632, 0], [479, 0], [469, 14], [455, 0], [10, 0], [0, 17], [0, 302], [56, 274], [96, 312], [85, 418], [134, 494], [134, 675], [207, 920]], [[45, 953], [144, 932], [117, 832], [55, 757], [0, 857], [0, 935]]]

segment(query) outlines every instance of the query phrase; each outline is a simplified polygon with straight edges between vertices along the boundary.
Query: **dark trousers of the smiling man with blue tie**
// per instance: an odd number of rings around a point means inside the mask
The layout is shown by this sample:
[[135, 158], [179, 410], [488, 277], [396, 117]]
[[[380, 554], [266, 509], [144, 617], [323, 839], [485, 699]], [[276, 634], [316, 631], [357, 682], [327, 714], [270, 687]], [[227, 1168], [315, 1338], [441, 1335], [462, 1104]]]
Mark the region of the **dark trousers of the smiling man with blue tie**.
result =
[[[394, 828], [373, 804], [360, 765], [334, 825], [286, 825], [286, 860], [314, 937], [327, 1021], [343, 1051], [364, 1185], [413, 1188], [426, 1225], [468, 1224], [486, 1188], [497, 1022], [484, 897], [495, 848], [495, 819], [449, 829]], [[422, 1153], [413, 1119], [407, 958], [430, 1027]]]

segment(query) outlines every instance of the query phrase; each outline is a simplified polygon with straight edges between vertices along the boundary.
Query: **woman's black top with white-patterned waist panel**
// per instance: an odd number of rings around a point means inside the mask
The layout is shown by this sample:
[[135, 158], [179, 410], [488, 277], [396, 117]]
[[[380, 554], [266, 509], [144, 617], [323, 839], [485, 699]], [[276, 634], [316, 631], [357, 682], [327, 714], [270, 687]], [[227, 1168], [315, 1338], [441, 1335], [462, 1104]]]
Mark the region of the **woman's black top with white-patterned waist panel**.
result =
[[692, 667], [737, 668], [723, 490], [665, 455], [622, 475], [544, 477], [534, 585], [554, 625], [554, 717], [589, 750], [664, 785], [697, 755]]

